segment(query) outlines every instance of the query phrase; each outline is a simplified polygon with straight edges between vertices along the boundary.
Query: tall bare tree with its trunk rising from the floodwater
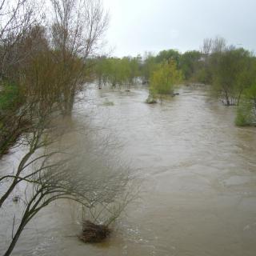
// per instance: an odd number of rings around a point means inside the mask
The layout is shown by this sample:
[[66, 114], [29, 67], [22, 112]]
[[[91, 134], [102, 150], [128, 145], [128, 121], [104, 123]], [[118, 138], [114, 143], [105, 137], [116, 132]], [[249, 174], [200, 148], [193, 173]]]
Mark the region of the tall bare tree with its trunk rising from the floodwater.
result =
[[70, 115], [74, 96], [86, 81], [86, 59], [98, 50], [108, 26], [108, 14], [104, 12], [100, 0], [50, 2], [54, 10], [52, 46], [58, 62], [62, 63], [62, 111]]

